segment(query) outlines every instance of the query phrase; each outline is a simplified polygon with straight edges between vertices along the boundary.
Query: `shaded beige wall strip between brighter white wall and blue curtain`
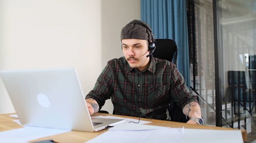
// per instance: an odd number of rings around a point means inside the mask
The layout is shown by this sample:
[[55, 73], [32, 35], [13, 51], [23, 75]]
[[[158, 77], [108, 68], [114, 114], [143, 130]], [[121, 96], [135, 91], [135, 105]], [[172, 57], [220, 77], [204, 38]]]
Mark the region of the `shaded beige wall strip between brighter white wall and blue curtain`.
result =
[[[134, 19], [140, 19], [140, 0], [103, 0], [101, 2], [102, 69], [109, 60], [123, 56], [120, 33], [122, 27]], [[110, 100], [106, 100], [102, 110], [113, 112]]]

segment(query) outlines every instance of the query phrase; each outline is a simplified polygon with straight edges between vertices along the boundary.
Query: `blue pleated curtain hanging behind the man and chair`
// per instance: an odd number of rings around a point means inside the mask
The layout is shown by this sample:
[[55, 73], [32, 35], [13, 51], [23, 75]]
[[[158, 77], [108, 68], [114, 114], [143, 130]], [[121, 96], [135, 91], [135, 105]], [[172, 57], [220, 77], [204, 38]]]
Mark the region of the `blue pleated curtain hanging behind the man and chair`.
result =
[[186, 0], [141, 0], [141, 20], [152, 27], [157, 39], [177, 43], [177, 67], [190, 87]]

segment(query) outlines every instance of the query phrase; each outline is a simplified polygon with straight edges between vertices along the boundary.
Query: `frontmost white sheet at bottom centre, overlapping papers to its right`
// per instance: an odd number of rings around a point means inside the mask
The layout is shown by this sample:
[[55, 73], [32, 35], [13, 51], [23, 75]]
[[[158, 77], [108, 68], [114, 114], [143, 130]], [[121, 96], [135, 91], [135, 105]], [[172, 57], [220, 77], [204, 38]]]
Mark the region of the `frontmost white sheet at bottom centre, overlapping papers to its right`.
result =
[[156, 130], [143, 130], [143, 131], [121, 131], [109, 130], [101, 135], [89, 140], [87, 143], [179, 143], [183, 136], [184, 128], [162, 128]]

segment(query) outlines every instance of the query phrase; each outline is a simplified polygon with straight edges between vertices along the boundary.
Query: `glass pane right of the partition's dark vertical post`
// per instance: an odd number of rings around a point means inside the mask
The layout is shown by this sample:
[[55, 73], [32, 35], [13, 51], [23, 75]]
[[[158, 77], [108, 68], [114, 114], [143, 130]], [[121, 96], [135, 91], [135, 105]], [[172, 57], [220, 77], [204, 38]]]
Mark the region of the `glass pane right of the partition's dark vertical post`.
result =
[[256, 1], [219, 1], [217, 14], [223, 53], [222, 123], [250, 133], [256, 111]]

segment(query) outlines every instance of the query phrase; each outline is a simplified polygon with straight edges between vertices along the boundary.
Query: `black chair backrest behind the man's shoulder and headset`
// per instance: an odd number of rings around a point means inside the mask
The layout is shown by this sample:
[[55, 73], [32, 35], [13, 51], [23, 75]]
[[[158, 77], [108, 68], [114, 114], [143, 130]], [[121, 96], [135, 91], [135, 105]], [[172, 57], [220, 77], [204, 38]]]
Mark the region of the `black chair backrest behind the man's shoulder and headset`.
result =
[[176, 42], [172, 39], [156, 39], [156, 49], [153, 56], [158, 59], [164, 59], [177, 65], [178, 48]]

